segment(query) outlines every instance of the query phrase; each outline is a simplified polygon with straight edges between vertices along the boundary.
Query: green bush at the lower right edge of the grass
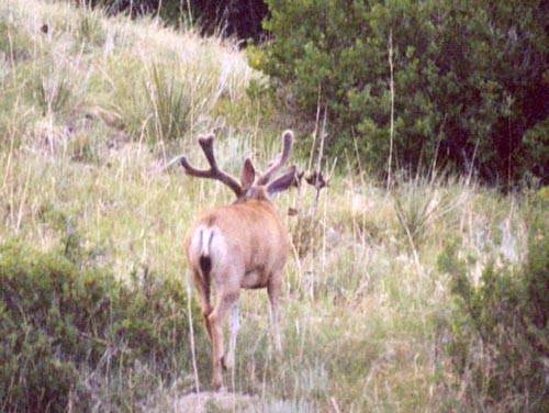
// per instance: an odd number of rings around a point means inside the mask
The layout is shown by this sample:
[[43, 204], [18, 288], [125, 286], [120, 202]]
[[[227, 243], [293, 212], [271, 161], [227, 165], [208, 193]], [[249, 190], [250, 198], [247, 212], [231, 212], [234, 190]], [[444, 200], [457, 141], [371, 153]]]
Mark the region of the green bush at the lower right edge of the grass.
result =
[[479, 409], [548, 411], [549, 192], [533, 203], [528, 258], [516, 269], [491, 264], [474, 286], [452, 244], [439, 257], [457, 310], [447, 349]]

